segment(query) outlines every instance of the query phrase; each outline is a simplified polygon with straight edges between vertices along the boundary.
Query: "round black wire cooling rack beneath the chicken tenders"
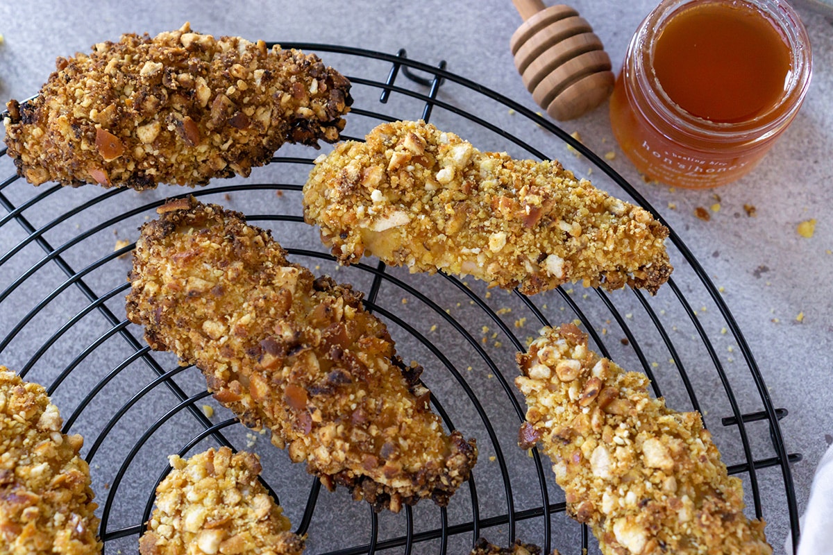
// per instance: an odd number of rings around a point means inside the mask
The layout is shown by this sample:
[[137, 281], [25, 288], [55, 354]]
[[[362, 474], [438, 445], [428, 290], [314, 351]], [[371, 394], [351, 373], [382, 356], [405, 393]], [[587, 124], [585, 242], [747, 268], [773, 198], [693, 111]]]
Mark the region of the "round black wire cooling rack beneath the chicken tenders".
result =
[[[351, 79], [356, 102], [344, 138], [361, 138], [380, 121], [421, 117], [478, 137], [481, 150], [560, 158], [577, 176], [592, 173], [596, 186], [661, 220], [566, 131], [447, 72], [445, 62], [433, 67], [404, 51], [283, 46], [318, 52]], [[0, 183], [0, 364], [46, 385], [64, 431], [84, 435], [105, 551], [136, 552], [169, 454], [227, 445], [260, 454], [264, 483], [297, 532], [307, 534], [307, 553], [468, 553], [480, 536], [503, 545], [518, 538], [545, 553], [598, 553], [587, 528], [566, 517], [549, 462], [516, 445], [524, 405], [512, 384], [514, 354], [541, 326], [569, 321], [601, 354], [644, 371], [669, 406], [699, 410], [729, 472], [744, 483], [749, 516], [772, 523], [773, 545], [788, 531], [796, 545], [790, 463], [801, 455], [788, 454], [781, 437], [786, 410], [771, 404], [720, 290], [673, 230], [668, 249], [676, 270], [655, 297], [576, 286], [527, 298], [472, 280], [408, 275], [375, 259], [339, 268], [301, 216], [302, 183], [318, 153], [285, 146], [278, 154], [247, 179], [197, 190], [35, 188], [16, 175]], [[6, 156], [0, 165], [14, 171]], [[431, 403], [446, 426], [478, 441], [473, 477], [447, 508], [423, 501], [399, 514], [376, 514], [343, 489], [322, 491], [303, 465], [216, 404], [197, 369], [148, 349], [124, 314], [130, 251], [137, 227], [166, 197], [188, 194], [245, 212], [271, 229], [293, 260], [366, 291], [368, 309], [387, 322], [398, 352], [425, 366]]]

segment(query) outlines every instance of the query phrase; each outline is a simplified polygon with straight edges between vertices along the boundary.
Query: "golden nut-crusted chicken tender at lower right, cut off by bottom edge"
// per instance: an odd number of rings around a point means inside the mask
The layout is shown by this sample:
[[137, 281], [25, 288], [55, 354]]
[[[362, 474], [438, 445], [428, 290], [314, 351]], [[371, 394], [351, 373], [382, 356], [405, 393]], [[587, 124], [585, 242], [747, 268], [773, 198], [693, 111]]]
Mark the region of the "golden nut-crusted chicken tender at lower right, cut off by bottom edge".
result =
[[644, 374], [593, 353], [575, 325], [545, 328], [518, 363], [519, 443], [549, 455], [568, 513], [601, 553], [772, 553], [700, 414], [651, 398]]

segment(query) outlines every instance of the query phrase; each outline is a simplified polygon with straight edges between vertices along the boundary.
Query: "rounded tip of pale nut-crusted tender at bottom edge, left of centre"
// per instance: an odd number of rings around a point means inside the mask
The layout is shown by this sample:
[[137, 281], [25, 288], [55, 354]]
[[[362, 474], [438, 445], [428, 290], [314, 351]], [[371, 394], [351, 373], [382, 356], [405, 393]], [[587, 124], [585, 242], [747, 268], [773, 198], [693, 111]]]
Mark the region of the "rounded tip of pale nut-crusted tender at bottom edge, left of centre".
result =
[[300, 555], [304, 538], [257, 480], [256, 454], [221, 447], [170, 458], [156, 508], [139, 540], [141, 555]]

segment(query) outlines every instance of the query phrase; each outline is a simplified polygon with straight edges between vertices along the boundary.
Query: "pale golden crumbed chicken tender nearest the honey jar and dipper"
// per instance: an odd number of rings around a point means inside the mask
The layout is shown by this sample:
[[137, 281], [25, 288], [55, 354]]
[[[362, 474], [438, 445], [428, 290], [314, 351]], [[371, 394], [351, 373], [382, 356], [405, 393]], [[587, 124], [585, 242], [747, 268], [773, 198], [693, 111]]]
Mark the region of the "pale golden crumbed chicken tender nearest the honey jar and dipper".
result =
[[571, 281], [656, 293], [672, 270], [668, 229], [648, 211], [557, 161], [481, 152], [423, 121], [383, 123], [320, 156], [304, 216], [344, 264], [377, 255], [527, 295]]

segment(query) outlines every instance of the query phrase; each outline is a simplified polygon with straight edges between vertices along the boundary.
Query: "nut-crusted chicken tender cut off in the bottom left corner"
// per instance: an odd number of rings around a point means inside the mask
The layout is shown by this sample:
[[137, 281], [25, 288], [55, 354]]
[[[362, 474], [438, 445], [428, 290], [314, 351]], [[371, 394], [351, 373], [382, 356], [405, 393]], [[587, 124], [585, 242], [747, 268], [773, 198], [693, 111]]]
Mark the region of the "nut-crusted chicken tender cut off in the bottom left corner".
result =
[[101, 553], [80, 435], [41, 385], [0, 366], [0, 555]]

